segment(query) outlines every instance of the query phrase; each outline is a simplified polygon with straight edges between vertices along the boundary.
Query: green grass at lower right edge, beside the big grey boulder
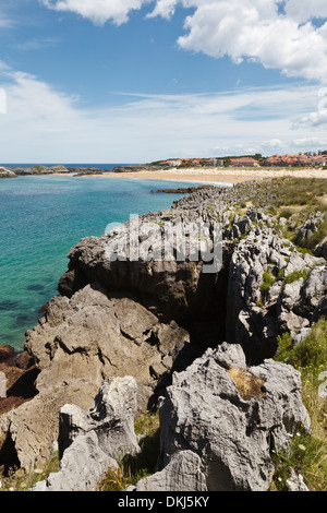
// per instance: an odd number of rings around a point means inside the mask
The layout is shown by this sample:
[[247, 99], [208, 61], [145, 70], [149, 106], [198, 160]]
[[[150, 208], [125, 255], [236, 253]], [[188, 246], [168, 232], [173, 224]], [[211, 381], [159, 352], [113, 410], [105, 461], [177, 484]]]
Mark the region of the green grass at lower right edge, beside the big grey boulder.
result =
[[[322, 377], [327, 371], [327, 320], [313, 324], [310, 335], [292, 346], [290, 334], [278, 337], [276, 359], [293, 366], [301, 372], [302, 397], [311, 422], [310, 434], [299, 431], [292, 439], [290, 451], [272, 455], [276, 473], [272, 490], [286, 490], [290, 467], [304, 478], [311, 491], [327, 489], [327, 399], [319, 394], [325, 386]], [[327, 384], [326, 384], [327, 385]]]

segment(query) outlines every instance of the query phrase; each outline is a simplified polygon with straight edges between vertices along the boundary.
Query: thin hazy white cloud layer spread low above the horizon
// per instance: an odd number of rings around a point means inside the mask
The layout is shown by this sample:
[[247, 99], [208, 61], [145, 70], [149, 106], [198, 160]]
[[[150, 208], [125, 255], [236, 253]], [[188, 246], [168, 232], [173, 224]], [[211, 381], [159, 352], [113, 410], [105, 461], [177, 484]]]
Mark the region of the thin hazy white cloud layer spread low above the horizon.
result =
[[[291, 151], [294, 140], [318, 138], [318, 144], [325, 135], [311, 133], [307, 127], [290, 127], [294, 111], [304, 116], [314, 110], [319, 98], [314, 86], [131, 94], [119, 107], [96, 110], [4, 64], [0, 77], [8, 99], [7, 114], [0, 116], [2, 163], [143, 163], [171, 155], [219, 156], [250, 150], [271, 154], [279, 153], [279, 142]], [[218, 152], [217, 146], [230, 150]], [[316, 150], [323, 150], [319, 146]]]

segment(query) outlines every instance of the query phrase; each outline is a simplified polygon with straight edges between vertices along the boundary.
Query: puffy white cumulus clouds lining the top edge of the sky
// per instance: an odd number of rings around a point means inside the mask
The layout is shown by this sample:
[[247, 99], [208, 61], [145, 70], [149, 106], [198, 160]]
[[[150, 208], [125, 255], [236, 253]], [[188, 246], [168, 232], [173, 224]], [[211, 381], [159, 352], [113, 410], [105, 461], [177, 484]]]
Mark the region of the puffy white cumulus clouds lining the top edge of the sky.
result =
[[289, 77], [327, 82], [326, 0], [40, 1], [94, 23], [118, 25], [129, 20], [131, 11], [147, 4], [152, 11], [146, 17], [170, 19], [177, 7], [193, 9], [185, 17], [185, 34], [178, 39], [183, 49], [215, 58], [228, 56], [235, 63], [250, 59]]

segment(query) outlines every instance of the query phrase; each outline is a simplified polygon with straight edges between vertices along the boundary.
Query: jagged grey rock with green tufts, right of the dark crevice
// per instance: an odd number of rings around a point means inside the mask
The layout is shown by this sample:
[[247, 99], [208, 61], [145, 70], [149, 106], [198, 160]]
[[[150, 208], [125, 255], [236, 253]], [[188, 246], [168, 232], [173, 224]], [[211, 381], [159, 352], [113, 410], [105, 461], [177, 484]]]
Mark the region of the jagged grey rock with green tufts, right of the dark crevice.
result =
[[249, 362], [274, 357], [280, 333], [310, 326], [327, 294], [325, 263], [299, 253], [269, 228], [256, 228], [239, 242], [230, 263], [227, 339], [242, 341]]

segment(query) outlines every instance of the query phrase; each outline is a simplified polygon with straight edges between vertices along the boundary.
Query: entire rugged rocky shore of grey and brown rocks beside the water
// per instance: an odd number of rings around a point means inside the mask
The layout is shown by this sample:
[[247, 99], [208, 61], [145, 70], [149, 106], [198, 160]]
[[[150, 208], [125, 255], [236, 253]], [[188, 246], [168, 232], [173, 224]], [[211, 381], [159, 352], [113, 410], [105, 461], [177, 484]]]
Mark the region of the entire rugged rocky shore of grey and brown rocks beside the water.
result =
[[[271, 183], [203, 188], [141, 216], [136, 239], [131, 220], [72, 248], [26, 333], [28, 397], [0, 399], [0, 466], [33, 468], [57, 442], [60, 470], [35, 490], [95, 490], [120, 451], [140, 450], [134, 418], [159, 407], [156, 473], [133, 490], [269, 489], [271, 451], [311, 430], [278, 336], [302, 339], [327, 308], [327, 239], [302, 244], [325, 213], [284, 217]], [[7, 368], [19, 383], [12, 354]], [[306, 489], [296, 475], [290, 487]]]

